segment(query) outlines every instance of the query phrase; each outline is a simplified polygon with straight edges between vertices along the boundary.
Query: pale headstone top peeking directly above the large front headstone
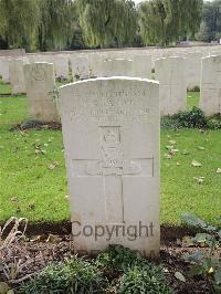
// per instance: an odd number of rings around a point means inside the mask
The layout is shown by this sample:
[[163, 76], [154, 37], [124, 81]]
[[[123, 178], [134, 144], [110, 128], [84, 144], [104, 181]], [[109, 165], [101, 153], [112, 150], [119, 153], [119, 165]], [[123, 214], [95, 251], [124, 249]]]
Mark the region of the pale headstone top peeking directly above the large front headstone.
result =
[[133, 76], [133, 60], [105, 60], [102, 64], [103, 76]]

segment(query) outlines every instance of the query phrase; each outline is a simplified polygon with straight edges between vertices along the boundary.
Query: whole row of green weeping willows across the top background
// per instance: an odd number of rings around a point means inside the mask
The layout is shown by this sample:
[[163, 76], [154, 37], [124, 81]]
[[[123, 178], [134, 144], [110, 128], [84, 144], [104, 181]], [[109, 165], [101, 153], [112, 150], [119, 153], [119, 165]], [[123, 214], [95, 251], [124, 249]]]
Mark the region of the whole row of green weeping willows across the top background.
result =
[[[202, 2], [146, 0], [137, 8], [133, 0], [0, 0], [0, 46], [49, 51], [167, 45], [194, 35]], [[221, 33], [220, 13], [221, 0], [204, 4], [203, 35]]]

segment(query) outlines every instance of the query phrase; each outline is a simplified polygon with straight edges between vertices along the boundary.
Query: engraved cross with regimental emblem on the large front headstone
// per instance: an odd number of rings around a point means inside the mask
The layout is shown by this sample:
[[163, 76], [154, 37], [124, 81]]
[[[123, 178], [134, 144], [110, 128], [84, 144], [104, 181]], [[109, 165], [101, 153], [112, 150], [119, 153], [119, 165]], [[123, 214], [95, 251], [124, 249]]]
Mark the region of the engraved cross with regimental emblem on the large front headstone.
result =
[[[73, 177], [103, 177], [107, 223], [124, 222], [124, 177], [154, 177], [154, 157], [124, 158], [120, 127], [103, 126], [102, 160], [73, 159]], [[135, 196], [136, 197], [136, 196]]]

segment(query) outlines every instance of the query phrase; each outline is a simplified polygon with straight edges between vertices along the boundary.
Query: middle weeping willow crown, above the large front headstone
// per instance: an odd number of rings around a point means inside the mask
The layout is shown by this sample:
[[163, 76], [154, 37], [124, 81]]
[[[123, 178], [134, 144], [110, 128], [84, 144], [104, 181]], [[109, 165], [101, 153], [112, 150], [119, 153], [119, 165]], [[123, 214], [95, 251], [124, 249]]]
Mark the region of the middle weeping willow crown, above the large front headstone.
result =
[[131, 43], [137, 30], [137, 12], [131, 0], [77, 0], [80, 25], [92, 46]]

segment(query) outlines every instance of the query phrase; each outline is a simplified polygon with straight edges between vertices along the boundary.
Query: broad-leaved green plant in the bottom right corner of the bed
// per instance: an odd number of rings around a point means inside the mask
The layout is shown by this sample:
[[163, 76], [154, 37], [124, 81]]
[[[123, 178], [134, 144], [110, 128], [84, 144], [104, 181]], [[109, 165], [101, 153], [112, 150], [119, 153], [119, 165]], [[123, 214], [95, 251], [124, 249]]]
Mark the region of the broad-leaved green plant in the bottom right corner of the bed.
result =
[[221, 244], [221, 229], [210, 225], [190, 213], [183, 213], [181, 219], [188, 225], [203, 231], [197, 233], [192, 241], [198, 245], [209, 246], [208, 251], [198, 250], [183, 255], [185, 261], [191, 264], [190, 274], [203, 275], [212, 284], [214, 293], [221, 293], [221, 260], [217, 253], [217, 248]]

